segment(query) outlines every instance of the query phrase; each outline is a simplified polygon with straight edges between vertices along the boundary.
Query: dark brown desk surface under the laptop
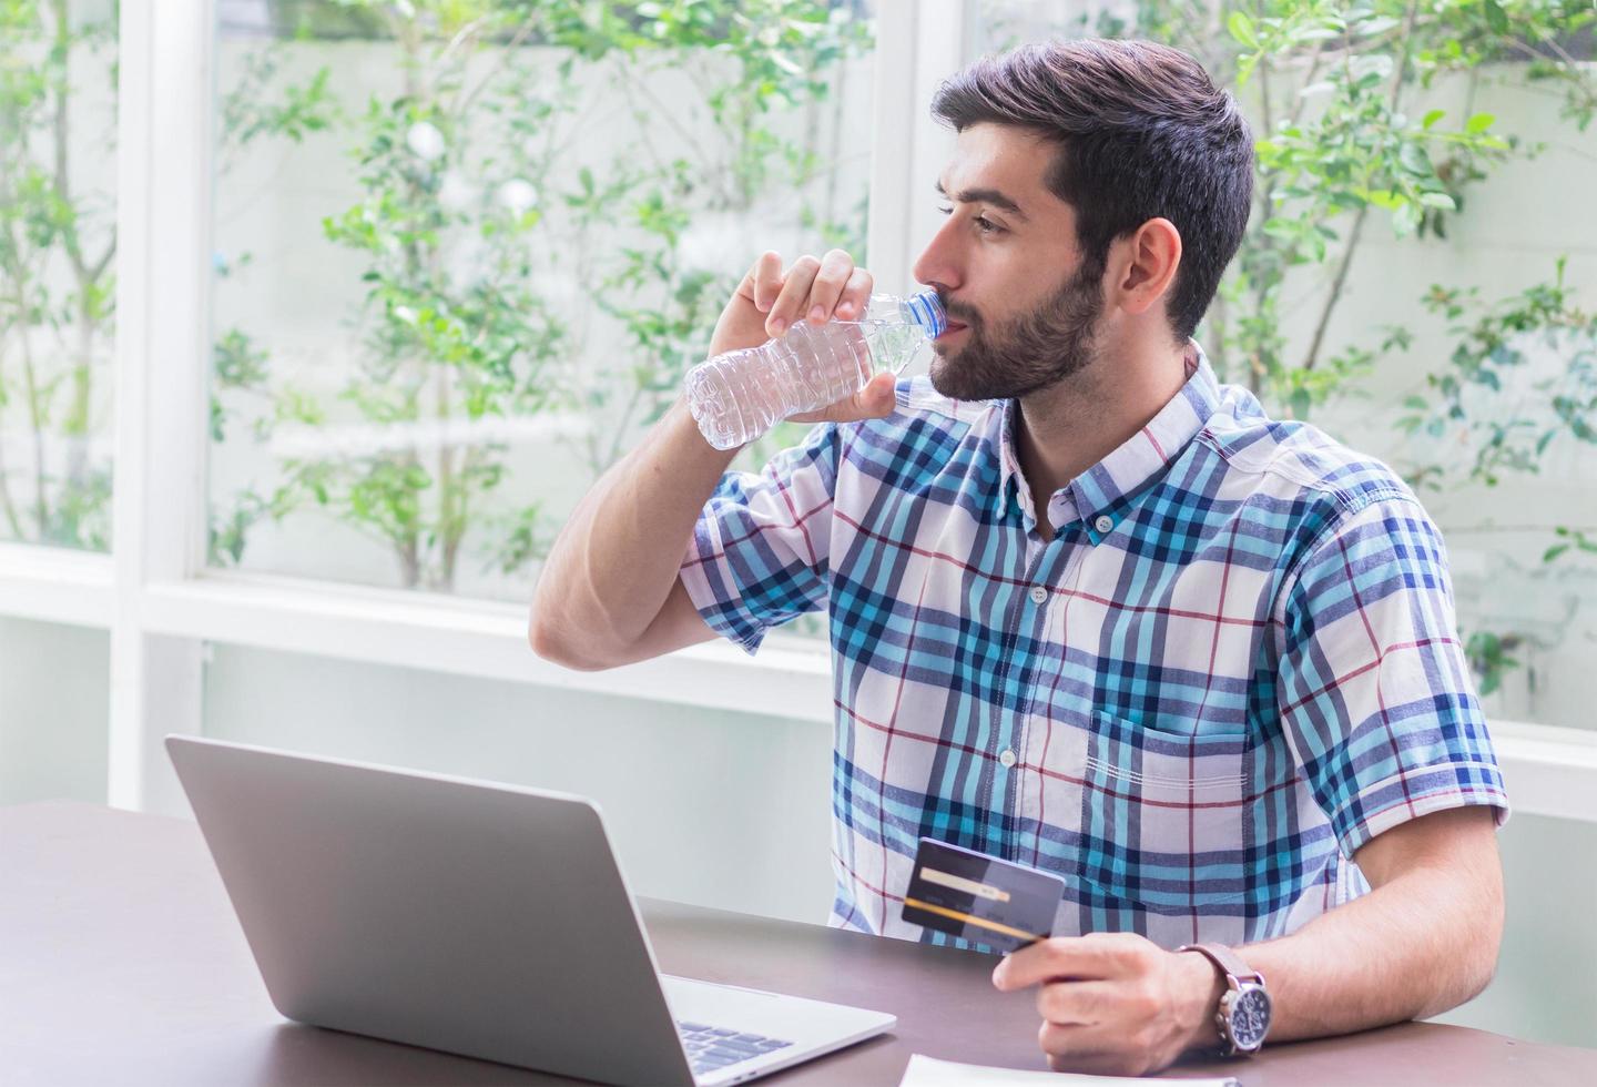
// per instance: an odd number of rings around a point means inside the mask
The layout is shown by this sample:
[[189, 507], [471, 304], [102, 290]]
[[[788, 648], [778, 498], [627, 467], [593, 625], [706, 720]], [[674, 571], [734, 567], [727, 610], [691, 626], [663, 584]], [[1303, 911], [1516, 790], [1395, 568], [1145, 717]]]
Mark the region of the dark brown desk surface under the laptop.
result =
[[[910, 1053], [1040, 1068], [1032, 996], [974, 951], [644, 900], [663, 969], [894, 1012], [898, 1030], [770, 1079], [898, 1084]], [[89, 804], [0, 808], [0, 1066], [22, 1084], [553, 1084], [286, 1022], [198, 828]], [[1405, 1023], [1180, 1065], [1246, 1087], [1597, 1082], [1597, 1050]]]

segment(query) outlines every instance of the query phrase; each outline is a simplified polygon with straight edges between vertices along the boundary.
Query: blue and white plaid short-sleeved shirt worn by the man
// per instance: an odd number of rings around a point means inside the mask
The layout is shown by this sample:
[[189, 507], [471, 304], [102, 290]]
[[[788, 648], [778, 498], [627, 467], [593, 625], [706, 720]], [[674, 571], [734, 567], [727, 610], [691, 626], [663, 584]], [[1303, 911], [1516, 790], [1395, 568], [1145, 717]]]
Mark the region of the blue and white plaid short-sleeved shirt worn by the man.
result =
[[899, 916], [928, 835], [1064, 876], [1056, 935], [1239, 945], [1367, 891], [1389, 827], [1506, 819], [1440, 535], [1385, 464], [1199, 353], [1044, 541], [1012, 431], [901, 381], [695, 528], [682, 581], [747, 651], [830, 613], [832, 924], [963, 943]]

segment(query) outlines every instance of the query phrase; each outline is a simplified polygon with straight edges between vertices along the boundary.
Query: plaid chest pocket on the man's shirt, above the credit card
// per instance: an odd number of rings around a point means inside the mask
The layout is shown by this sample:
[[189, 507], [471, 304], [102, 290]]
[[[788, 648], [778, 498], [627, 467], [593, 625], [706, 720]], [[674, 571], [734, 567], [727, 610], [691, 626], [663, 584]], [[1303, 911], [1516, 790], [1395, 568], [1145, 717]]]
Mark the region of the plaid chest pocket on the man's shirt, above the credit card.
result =
[[[1247, 734], [1097, 710], [1081, 785], [1081, 879], [1151, 913], [1242, 899]], [[1180, 731], [1177, 731], [1180, 729]]]

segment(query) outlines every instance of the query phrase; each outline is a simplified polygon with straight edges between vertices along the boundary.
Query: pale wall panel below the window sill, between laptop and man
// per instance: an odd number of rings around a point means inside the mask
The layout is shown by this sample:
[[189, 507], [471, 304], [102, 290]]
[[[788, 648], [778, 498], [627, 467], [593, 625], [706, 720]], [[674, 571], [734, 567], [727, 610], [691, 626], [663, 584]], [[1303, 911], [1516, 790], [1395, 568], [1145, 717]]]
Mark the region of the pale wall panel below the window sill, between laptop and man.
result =
[[816, 924], [832, 903], [826, 725], [232, 646], [206, 669], [204, 720], [246, 744], [591, 796], [637, 894]]

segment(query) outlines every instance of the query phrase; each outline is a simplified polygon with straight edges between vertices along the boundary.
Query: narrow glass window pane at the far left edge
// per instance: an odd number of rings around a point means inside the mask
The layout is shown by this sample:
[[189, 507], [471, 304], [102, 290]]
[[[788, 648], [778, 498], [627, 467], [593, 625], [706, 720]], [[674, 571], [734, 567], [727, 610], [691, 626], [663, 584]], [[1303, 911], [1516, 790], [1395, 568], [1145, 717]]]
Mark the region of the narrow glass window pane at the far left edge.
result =
[[107, 551], [117, 5], [0, 5], [0, 540]]

